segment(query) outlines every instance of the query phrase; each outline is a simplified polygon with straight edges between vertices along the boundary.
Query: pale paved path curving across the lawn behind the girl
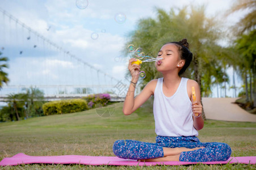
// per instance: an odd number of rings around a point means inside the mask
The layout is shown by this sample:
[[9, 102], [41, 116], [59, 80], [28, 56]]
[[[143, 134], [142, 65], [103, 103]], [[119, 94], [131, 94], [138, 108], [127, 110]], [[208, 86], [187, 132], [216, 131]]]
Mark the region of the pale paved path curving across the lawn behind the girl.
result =
[[256, 115], [246, 112], [232, 102], [238, 98], [208, 98], [203, 97], [205, 117], [212, 120], [256, 122]]

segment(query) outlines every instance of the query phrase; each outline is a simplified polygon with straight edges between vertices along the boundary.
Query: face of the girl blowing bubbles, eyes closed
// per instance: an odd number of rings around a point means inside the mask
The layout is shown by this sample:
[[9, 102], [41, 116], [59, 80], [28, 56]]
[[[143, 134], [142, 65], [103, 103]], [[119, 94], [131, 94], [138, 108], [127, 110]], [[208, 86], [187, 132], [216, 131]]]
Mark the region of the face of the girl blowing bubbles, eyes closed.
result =
[[178, 47], [175, 44], [163, 45], [158, 52], [157, 58], [163, 58], [155, 63], [157, 71], [160, 72], [177, 69], [179, 67], [179, 62], [181, 61]]

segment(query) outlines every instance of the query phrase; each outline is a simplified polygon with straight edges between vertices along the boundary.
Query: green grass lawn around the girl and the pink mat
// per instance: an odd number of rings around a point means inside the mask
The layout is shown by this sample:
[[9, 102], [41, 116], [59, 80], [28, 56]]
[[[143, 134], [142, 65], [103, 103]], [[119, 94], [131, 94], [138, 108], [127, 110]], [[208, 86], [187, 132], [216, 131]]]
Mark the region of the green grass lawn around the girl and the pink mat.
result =
[[[99, 117], [95, 109], [85, 112], [30, 118], [0, 123], [0, 160], [19, 152], [33, 156], [91, 155], [115, 156], [112, 145], [117, 139], [155, 142], [154, 117], [150, 101], [130, 116], [116, 103], [110, 117]], [[232, 156], [255, 156], [256, 124], [250, 122], [205, 121], [199, 131], [201, 142], [225, 142]], [[28, 164], [2, 169], [256, 169], [256, 165], [187, 165], [187, 166], [90, 166]]]

